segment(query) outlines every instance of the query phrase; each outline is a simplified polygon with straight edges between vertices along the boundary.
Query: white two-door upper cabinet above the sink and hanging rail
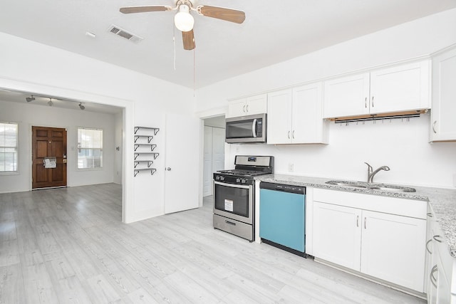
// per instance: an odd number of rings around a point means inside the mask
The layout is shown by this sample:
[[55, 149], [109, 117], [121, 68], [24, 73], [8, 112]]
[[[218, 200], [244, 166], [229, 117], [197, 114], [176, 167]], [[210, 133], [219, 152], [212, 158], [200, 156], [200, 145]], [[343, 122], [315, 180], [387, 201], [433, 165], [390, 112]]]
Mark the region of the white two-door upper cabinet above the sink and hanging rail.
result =
[[430, 108], [429, 61], [396, 65], [324, 83], [323, 117]]

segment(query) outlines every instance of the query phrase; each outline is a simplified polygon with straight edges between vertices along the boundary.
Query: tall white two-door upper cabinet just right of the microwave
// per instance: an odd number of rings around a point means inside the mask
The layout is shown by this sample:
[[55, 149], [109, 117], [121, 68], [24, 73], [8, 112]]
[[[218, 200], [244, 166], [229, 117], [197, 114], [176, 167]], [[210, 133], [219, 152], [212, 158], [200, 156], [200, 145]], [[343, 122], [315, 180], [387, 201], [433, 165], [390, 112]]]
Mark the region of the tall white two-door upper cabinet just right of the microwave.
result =
[[327, 143], [322, 117], [322, 83], [268, 94], [267, 143]]

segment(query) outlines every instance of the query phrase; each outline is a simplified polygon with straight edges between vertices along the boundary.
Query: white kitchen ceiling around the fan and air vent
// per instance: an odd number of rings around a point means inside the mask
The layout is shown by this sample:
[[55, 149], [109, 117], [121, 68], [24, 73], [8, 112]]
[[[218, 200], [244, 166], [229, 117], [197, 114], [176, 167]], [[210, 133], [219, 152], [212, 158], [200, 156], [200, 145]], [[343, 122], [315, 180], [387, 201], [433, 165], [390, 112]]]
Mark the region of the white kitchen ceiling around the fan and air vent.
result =
[[[182, 34], [173, 24], [175, 11], [119, 12], [123, 6], [174, 4], [172, 0], [4, 1], [0, 31], [197, 89], [455, 8], [456, 0], [195, 0], [194, 6], [229, 7], [246, 14], [244, 23], [237, 24], [193, 12], [195, 51], [183, 50]], [[143, 40], [135, 43], [116, 36], [108, 31], [111, 25]]]

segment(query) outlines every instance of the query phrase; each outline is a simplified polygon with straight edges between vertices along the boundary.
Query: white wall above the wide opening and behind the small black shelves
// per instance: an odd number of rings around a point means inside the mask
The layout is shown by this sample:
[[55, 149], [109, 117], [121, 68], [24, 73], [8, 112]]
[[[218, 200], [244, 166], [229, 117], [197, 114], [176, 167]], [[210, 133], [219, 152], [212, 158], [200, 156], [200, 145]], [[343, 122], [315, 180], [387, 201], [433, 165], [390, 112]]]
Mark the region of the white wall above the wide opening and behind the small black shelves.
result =
[[[125, 108], [123, 220], [163, 214], [164, 172], [133, 177], [133, 127], [163, 128], [165, 113], [193, 113], [193, 90], [5, 33], [0, 33], [0, 50], [0, 88]], [[199, 134], [189, 136], [199, 142]], [[163, 153], [163, 138], [154, 140]], [[154, 166], [163, 168], [163, 157]]]

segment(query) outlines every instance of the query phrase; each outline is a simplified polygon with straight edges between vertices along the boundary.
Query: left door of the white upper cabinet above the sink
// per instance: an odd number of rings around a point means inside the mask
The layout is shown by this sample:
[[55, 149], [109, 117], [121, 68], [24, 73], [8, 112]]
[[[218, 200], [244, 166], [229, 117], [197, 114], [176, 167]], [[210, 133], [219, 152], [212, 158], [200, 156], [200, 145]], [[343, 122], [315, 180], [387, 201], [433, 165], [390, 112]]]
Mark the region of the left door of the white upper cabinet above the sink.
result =
[[346, 117], [369, 113], [369, 73], [324, 82], [323, 117]]

